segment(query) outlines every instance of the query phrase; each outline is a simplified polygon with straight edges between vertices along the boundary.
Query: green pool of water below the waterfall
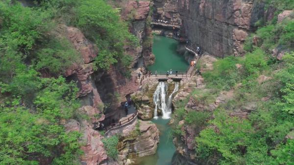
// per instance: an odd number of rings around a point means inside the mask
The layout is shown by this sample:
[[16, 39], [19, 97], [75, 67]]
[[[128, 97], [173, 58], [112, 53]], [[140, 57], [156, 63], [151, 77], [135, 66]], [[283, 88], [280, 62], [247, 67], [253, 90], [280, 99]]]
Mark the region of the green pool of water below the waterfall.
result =
[[159, 144], [154, 155], [138, 158], [135, 165], [171, 165], [175, 147], [172, 144], [172, 128], [168, 125], [170, 119], [151, 120], [159, 129]]

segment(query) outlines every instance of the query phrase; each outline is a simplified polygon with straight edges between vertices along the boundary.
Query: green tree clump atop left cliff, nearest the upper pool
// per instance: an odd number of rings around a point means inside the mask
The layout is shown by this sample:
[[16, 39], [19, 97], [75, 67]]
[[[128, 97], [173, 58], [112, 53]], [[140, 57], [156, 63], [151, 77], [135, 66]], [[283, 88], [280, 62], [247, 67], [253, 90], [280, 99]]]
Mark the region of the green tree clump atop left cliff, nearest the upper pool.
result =
[[100, 48], [96, 66], [108, 69], [118, 59], [128, 64], [125, 59], [129, 58], [123, 54], [123, 46], [128, 42], [136, 45], [137, 40], [128, 32], [127, 24], [120, 20], [117, 10], [103, 0], [84, 0], [77, 11], [78, 26]]

